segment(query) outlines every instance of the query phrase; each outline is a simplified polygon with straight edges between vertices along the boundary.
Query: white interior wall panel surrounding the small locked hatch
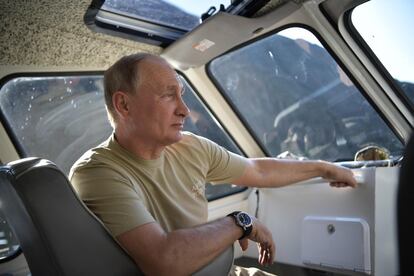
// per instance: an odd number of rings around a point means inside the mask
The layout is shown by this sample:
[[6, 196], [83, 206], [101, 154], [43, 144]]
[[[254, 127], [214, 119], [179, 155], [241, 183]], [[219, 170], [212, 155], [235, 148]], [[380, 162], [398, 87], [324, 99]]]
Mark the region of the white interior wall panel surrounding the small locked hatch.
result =
[[[362, 181], [356, 189], [332, 188], [328, 183], [315, 180], [309, 184], [260, 189], [258, 217], [272, 231], [276, 242], [276, 261], [307, 266], [302, 262], [301, 245], [302, 223], [306, 217], [354, 218], [365, 221], [369, 226], [372, 274], [398, 274], [395, 239], [398, 168], [363, 168], [354, 170], [354, 173]], [[352, 237], [349, 241], [353, 241]], [[257, 249], [249, 250], [247, 255], [257, 257]], [[338, 272], [337, 269], [320, 265], [317, 268]], [[362, 274], [340, 271], [350, 275]]]

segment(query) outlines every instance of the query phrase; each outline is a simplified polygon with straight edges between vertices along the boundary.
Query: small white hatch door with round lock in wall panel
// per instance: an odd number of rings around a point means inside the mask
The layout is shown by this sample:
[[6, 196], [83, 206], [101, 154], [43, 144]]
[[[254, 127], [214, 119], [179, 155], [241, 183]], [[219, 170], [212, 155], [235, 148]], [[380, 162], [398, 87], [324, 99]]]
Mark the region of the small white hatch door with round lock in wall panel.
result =
[[301, 248], [304, 264], [371, 273], [369, 226], [363, 219], [307, 216]]

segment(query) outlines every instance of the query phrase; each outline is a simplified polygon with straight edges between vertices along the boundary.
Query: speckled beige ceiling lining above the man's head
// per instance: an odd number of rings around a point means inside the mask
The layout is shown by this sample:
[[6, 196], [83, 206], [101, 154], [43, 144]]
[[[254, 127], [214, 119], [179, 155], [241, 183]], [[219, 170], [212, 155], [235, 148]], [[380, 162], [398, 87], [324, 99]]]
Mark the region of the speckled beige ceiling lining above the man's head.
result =
[[0, 66], [104, 69], [123, 55], [161, 48], [91, 31], [91, 0], [1, 1]]

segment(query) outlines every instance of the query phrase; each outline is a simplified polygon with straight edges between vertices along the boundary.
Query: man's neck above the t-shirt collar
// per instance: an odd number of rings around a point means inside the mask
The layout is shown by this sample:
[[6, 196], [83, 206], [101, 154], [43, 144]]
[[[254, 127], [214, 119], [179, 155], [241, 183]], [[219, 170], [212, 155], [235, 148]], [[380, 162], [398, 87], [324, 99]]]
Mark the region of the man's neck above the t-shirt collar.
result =
[[145, 160], [158, 159], [165, 149], [165, 146], [145, 143], [138, 138], [129, 138], [119, 131], [115, 131], [115, 139], [121, 147]]

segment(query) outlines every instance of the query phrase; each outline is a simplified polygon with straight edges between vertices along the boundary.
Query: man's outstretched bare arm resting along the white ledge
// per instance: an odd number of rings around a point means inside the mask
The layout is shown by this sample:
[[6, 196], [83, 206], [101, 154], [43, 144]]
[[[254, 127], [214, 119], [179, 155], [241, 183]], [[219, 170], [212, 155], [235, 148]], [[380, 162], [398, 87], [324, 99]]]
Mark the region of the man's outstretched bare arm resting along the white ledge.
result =
[[322, 177], [335, 187], [356, 187], [350, 169], [325, 161], [249, 158], [242, 176], [232, 181], [240, 186], [282, 187], [314, 177]]

